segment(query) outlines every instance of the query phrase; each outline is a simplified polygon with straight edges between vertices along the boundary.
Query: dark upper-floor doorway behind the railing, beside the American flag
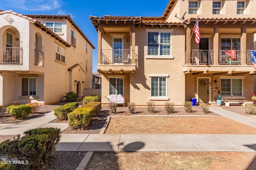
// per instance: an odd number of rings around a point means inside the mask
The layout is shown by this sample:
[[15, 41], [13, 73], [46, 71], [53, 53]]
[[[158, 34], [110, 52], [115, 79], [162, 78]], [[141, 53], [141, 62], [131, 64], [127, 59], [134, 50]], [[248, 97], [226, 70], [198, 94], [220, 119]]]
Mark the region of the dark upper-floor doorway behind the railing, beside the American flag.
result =
[[199, 43], [199, 64], [209, 64], [209, 38], [201, 38]]

